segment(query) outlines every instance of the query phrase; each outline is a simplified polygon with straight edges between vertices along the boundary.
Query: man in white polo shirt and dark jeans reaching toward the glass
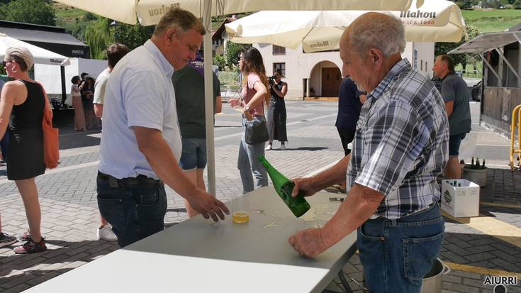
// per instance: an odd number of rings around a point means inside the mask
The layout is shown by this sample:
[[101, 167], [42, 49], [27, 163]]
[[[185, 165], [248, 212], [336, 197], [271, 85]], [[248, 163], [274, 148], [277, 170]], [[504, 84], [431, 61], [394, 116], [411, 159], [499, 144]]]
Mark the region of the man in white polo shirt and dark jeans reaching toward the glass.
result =
[[206, 33], [189, 11], [172, 9], [150, 40], [123, 57], [106, 86], [98, 206], [120, 246], [164, 228], [163, 182], [206, 219], [224, 219], [226, 206], [181, 171], [181, 132], [172, 74], [194, 60]]

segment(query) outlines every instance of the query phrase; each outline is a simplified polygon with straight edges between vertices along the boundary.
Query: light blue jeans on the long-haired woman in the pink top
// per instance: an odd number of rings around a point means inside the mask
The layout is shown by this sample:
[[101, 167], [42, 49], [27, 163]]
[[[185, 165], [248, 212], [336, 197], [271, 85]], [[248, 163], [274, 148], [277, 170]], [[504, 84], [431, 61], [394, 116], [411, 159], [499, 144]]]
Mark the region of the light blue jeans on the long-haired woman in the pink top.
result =
[[[264, 117], [254, 116], [254, 119], [264, 119]], [[252, 192], [254, 189], [252, 172], [256, 179], [255, 189], [268, 186], [268, 173], [259, 160], [257, 160], [259, 155], [264, 155], [264, 146], [266, 143], [247, 144], [245, 140], [245, 123], [246, 119], [243, 118], [239, 158], [237, 159], [237, 169], [239, 169], [240, 172], [243, 194]]]

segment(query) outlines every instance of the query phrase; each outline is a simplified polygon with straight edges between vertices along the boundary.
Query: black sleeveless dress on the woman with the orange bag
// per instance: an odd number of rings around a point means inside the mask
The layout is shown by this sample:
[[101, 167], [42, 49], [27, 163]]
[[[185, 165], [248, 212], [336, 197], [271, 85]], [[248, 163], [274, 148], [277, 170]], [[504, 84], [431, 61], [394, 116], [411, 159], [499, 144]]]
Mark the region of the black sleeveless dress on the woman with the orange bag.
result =
[[7, 153], [7, 179], [21, 180], [42, 175], [43, 162], [43, 108], [45, 98], [39, 84], [26, 84], [27, 99], [13, 106], [9, 118], [9, 152]]

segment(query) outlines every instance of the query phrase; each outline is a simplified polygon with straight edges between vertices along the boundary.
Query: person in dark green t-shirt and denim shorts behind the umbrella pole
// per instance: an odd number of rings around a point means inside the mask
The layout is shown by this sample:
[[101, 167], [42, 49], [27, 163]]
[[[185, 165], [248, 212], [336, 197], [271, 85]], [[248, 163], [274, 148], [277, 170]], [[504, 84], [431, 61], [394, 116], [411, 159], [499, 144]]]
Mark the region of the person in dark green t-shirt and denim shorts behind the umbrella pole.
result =
[[[172, 76], [176, 95], [177, 117], [181, 128], [183, 150], [179, 165], [192, 182], [200, 189], [206, 190], [203, 172], [206, 167], [206, 118], [204, 103], [204, 66], [203, 58], [198, 56]], [[220, 82], [213, 74], [213, 109], [220, 113], [222, 109]], [[184, 201], [188, 216], [198, 213]]]

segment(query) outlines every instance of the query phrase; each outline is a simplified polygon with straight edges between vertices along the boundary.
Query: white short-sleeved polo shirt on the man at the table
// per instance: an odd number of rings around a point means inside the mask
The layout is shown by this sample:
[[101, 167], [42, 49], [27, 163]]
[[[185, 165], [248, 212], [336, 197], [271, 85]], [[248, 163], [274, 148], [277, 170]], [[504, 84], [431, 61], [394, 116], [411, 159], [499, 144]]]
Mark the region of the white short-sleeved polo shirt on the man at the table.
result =
[[133, 126], [162, 132], [179, 162], [181, 132], [172, 86], [174, 67], [151, 40], [123, 57], [108, 79], [103, 104], [99, 171], [118, 179], [159, 179], [138, 149]]

